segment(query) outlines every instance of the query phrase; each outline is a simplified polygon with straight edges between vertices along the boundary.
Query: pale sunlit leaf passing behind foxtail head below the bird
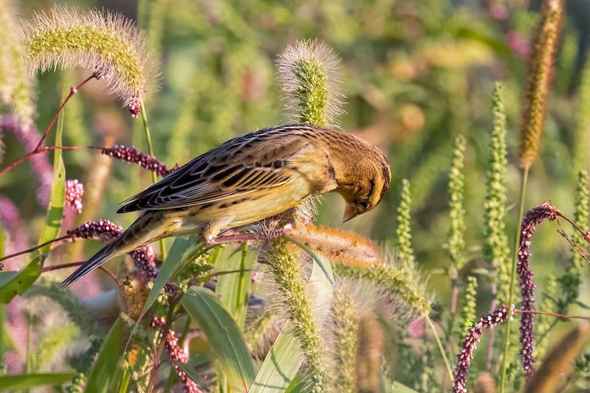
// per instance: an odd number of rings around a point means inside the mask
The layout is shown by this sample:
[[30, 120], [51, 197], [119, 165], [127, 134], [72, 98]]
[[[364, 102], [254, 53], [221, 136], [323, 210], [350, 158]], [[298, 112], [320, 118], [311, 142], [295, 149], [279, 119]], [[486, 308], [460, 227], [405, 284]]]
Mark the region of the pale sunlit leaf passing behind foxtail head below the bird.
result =
[[[297, 244], [297, 243], [296, 243]], [[334, 282], [332, 267], [322, 255], [312, 255], [314, 260], [312, 278], [310, 283], [316, 299], [322, 303], [332, 302]], [[321, 307], [314, 317], [321, 325], [325, 320], [329, 308]], [[301, 365], [300, 349], [293, 345], [293, 338], [289, 331], [283, 330], [268, 352], [264, 363], [258, 371], [258, 375], [248, 393], [282, 393], [291, 387], [293, 391], [300, 391], [303, 385], [293, 385], [293, 378]]]

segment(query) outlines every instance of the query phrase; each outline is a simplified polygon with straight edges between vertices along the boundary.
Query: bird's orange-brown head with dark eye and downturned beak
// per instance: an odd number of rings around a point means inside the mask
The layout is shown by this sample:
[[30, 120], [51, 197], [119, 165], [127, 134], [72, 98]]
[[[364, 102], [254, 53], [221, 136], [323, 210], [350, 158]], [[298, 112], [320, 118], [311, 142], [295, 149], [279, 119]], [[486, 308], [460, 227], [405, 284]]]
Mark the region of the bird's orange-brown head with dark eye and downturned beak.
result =
[[391, 167], [385, 154], [375, 148], [352, 164], [348, 181], [336, 190], [346, 202], [343, 222], [373, 210], [381, 202], [391, 183]]

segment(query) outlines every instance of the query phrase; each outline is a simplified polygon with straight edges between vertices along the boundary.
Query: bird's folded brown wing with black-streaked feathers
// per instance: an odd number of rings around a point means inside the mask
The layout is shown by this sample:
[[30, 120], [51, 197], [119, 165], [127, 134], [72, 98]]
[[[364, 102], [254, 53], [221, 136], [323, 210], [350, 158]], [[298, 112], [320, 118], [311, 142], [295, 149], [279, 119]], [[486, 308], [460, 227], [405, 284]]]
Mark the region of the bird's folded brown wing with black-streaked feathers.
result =
[[289, 129], [265, 128], [208, 151], [124, 201], [117, 213], [207, 204], [280, 186], [291, 160], [312, 148]]

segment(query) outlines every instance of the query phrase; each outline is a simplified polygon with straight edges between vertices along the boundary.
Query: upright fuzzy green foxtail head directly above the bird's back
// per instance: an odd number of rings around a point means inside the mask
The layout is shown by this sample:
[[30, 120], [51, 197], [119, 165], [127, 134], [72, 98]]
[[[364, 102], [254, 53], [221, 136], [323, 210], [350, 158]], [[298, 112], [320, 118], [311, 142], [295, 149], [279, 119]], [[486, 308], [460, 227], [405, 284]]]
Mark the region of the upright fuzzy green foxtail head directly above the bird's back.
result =
[[287, 94], [290, 120], [316, 126], [337, 126], [343, 113], [340, 60], [323, 42], [297, 41], [278, 58], [278, 75]]

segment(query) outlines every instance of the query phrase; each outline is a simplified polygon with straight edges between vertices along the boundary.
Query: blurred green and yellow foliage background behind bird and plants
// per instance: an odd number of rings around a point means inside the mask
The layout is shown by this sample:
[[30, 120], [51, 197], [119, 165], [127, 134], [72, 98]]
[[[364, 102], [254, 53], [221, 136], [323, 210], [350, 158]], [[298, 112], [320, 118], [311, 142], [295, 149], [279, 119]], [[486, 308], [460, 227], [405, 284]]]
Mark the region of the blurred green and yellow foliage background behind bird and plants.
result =
[[[317, 38], [330, 45], [342, 59], [347, 103], [340, 126], [386, 151], [393, 179], [379, 207], [349, 223], [340, 224], [342, 199], [325, 196], [319, 222], [395, 246], [399, 190], [401, 180], [408, 179], [418, 265], [431, 274], [430, 288], [444, 304], [451, 289], [450, 279], [440, 272], [450, 263], [442, 245], [450, 226], [447, 183], [452, 142], [459, 134], [467, 138], [468, 263], [460, 274], [468, 275], [484, 266], [483, 199], [491, 92], [496, 81], [506, 86], [509, 207], [516, 203], [520, 96], [538, 3], [156, 0], [142, 1], [139, 8], [135, 1], [68, 1], [67, 5], [121, 12], [146, 29], [153, 67], [160, 70], [159, 90], [149, 97], [147, 114], [156, 157], [169, 166], [183, 164], [239, 134], [285, 123], [283, 94], [277, 84], [278, 55], [300, 39]], [[19, 12], [30, 18], [51, 6], [52, 1], [22, 1]], [[576, 173], [588, 169], [590, 97], [584, 100], [579, 93], [584, 82], [590, 85], [586, 61], [590, 0], [566, 0], [566, 7], [540, 159], [530, 173], [525, 207], [552, 199], [563, 213], [571, 215]], [[57, 110], [62, 86], [77, 85], [87, 75], [88, 70], [39, 75], [39, 128], [45, 128]], [[141, 120], [132, 119], [120, 101], [106, 94], [100, 81], [89, 82], [74, 98], [65, 110], [65, 144], [135, 144], [147, 150]], [[25, 152], [11, 134], [3, 140], [4, 163]], [[92, 191], [87, 191], [84, 213], [68, 213], [72, 224], [64, 227], [99, 218], [126, 226], [135, 219], [132, 214], [119, 216], [114, 211], [117, 203], [150, 184], [147, 171], [109, 161], [96, 151], [65, 152], [64, 158], [68, 179], [83, 181], [87, 190], [95, 187], [97, 196], [91, 199]], [[44, 219], [48, 195], [47, 189], [40, 189], [40, 184], [47, 183], [44, 176], [47, 173], [24, 164], [0, 181], [0, 193], [18, 207], [29, 243], [37, 238]], [[515, 210], [507, 213], [510, 245], [518, 221]], [[553, 226], [541, 226], [535, 237], [532, 267], [542, 283], [549, 273], [562, 274], [571, 252]], [[79, 260], [99, 247], [79, 243], [64, 258]], [[581, 299], [588, 298], [588, 272], [590, 269], [585, 272]], [[487, 310], [487, 278], [479, 277], [478, 297], [478, 311]], [[571, 313], [584, 313], [584, 309], [573, 306]]]

